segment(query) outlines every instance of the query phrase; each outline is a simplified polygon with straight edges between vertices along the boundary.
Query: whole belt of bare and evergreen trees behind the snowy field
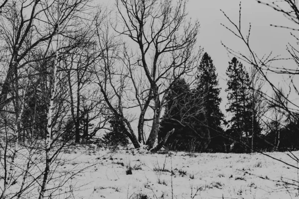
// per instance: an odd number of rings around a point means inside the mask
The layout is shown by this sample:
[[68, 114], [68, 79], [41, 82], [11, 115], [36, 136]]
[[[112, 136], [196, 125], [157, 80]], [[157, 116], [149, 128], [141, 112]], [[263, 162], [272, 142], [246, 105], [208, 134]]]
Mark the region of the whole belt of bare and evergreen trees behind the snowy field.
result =
[[[265, 93], [265, 78], [238, 57], [226, 63], [221, 88], [184, 0], [117, 0], [117, 16], [91, 5], [2, 2], [2, 141], [46, 139], [46, 148], [56, 141], [133, 143], [153, 151], [298, 149], [298, 113], [290, 111], [286, 91]], [[221, 89], [228, 117], [219, 107]]]

